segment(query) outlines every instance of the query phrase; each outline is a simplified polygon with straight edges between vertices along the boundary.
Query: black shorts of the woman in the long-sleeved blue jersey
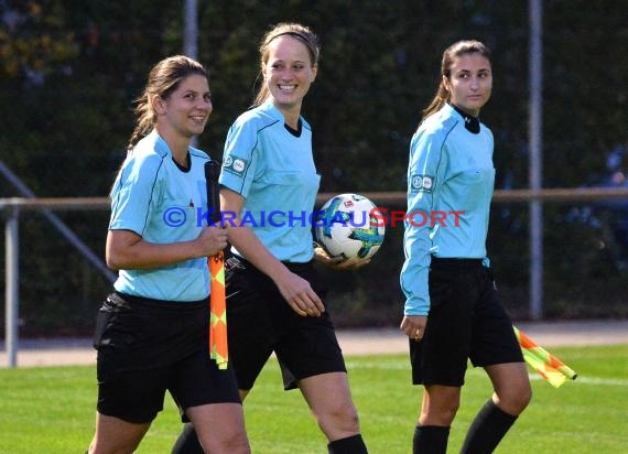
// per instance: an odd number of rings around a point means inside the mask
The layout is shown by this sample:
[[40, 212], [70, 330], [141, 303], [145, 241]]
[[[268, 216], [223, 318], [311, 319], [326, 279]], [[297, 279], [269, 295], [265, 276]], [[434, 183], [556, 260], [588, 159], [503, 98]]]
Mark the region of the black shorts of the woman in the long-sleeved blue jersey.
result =
[[430, 314], [420, 342], [410, 340], [414, 385], [464, 385], [474, 366], [522, 363], [512, 322], [499, 304], [491, 270], [476, 259], [432, 258]]

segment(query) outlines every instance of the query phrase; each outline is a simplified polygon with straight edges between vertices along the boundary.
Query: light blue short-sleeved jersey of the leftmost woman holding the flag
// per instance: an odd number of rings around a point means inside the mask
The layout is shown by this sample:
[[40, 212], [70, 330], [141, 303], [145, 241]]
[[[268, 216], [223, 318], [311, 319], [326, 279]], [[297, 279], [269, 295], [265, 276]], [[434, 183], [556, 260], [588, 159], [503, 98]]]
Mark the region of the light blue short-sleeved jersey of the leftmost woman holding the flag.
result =
[[[190, 148], [191, 167], [182, 171], [167, 143], [153, 130], [127, 156], [111, 190], [110, 230], [131, 230], [155, 244], [198, 237], [197, 208], [206, 213], [205, 163], [209, 156]], [[166, 301], [199, 301], [209, 294], [207, 259], [167, 267], [120, 270], [119, 292]]]

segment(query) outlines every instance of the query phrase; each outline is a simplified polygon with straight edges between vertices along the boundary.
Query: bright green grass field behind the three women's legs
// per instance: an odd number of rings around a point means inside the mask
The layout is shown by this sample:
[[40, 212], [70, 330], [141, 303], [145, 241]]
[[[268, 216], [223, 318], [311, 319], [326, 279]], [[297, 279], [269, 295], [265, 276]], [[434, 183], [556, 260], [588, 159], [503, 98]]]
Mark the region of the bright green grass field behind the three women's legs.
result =
[[[555, 389], [533, 378], [534, 397], [498, 453], [628, 452], [628, 345], [552, 348], [578, 372]], [[371, 454], [411, 453], [421, 388], [410, 385], [407, 355], [347, 358], [362, 434]], [[94, 367], [0, 369], [0, 454], [83, 453], [94, 432]], [[490, 394], [470, 369], [450, 437], [457, 453], [466, 428]], [[256, 454], [326, 453], [299, 391], [284, 392], [271, 360], [245, 404]], [[181, 423], [170, 397], [138, 453], [170, 453]]]

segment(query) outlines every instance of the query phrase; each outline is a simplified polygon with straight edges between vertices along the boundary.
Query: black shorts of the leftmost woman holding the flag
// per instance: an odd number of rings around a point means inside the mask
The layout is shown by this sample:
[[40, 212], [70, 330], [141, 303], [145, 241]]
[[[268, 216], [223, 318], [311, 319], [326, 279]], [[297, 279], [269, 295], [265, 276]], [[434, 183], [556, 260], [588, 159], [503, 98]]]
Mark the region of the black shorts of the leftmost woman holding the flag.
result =
[[98, 411], [147, 423], [170, 391], [190, 407], [240, 402], [232, 368], [209, 358], [207, 301], [166, 302], [111, 293], [98, 312]]

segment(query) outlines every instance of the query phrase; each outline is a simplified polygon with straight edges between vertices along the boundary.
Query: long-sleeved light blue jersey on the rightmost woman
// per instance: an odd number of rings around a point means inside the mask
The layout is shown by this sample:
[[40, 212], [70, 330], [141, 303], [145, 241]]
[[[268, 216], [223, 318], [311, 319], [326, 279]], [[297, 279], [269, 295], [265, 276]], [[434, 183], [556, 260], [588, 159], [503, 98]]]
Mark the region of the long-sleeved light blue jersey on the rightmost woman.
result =
[[[412, 137], [408, 219], [413, 221], [405, 221], [401, 270], [405, 315], [427, 315], [432, 256], [486, 259], [495, 184], [492, 148], [490, 130], [479, 123], [479, 132], [470, 132], [450, 105], [425, 119]], [[427, 221], [422, 223], [423, 216], [411, 217], [416, 212], [424, 213]]]

